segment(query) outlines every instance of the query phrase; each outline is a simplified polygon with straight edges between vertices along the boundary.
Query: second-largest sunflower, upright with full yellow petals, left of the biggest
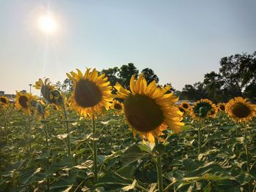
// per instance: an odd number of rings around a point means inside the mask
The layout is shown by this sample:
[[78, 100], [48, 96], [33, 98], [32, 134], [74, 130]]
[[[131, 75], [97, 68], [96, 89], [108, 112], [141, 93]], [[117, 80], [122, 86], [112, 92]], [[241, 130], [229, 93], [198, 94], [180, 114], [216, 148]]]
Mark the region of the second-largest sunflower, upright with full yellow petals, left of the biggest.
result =
[[70, 105], [81, 116], [99, 115], [105, 108], [108, 110], [113, 100], [108, 77], [105, 74], [99, 75], [96, 69], [86, 69], [83, 74], [67, 73], [67, 77], [74, 84], [74, 92], [69, 97]]

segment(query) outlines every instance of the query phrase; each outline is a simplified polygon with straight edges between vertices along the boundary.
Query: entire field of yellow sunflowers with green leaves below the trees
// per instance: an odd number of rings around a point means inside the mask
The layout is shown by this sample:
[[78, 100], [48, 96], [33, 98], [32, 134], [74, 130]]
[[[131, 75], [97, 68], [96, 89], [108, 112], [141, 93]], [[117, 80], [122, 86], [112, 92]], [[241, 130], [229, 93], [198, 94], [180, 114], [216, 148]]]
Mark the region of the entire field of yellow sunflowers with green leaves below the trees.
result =
[[177, 104], [170, 86], [96, 69], [0, 96], [0, 191], [256, 191], [256, 105]]

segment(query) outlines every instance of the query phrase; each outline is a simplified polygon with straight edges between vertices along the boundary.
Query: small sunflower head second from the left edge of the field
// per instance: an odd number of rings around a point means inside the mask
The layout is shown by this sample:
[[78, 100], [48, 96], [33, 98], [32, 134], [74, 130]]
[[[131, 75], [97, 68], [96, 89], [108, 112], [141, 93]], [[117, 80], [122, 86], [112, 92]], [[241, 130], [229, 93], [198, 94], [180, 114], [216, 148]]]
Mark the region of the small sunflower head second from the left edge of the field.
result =
[[32, 104], [37, 100], [37, 96], [32, 96], [31, 93], [22, 93], [16, 91], [15, 107], [18, 110], [23, 110], [26, 114], [30, 114], [32, 110]]

